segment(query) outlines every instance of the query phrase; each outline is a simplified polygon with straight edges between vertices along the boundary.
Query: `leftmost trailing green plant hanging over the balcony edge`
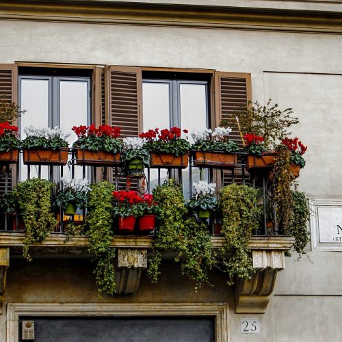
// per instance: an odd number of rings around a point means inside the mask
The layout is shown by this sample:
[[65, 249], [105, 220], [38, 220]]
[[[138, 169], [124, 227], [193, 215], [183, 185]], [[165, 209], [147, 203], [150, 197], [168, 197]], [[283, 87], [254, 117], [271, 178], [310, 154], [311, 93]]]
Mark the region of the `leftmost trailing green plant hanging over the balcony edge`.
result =
[[32, 260], [29, 246], [43, 241], [57, 225], [51, 213], [51, 188], [54, 186], [45, 179], [27, 179], [14, 187], [13, 193], [25, 224], [23, 257], [28, 261]]

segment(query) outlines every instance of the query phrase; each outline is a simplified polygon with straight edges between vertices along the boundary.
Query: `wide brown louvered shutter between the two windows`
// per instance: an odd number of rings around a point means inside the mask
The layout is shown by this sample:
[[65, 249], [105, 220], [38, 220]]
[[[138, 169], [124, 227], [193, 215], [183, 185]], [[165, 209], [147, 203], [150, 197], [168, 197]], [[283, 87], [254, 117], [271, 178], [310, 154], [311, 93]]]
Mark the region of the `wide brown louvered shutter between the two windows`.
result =
[[[136, 137], [142, 129], [142, 70], [129, 66], [109, 66], [107, 75], [109, 124], [121, 128], [121, 138]], [[126, 183], [126, 178], [120, 176], [119, 189], [124, 189]], [[137, 181], [132, 181], [131, 188], [136, 187]]]

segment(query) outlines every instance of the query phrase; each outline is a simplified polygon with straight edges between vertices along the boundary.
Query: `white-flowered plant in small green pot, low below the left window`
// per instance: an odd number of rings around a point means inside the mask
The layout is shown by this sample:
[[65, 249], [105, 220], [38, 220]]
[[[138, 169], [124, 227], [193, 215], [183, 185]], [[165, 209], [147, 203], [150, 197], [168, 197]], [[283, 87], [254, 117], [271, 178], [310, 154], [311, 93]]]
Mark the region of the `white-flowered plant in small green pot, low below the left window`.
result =
[[58, 192], [54, 205], [62, 207], [65, 215], [75, 215], [77, 208], [87, 207], [87, 194], [90, 189], [88, 179], [61, 179], [63, 189]]

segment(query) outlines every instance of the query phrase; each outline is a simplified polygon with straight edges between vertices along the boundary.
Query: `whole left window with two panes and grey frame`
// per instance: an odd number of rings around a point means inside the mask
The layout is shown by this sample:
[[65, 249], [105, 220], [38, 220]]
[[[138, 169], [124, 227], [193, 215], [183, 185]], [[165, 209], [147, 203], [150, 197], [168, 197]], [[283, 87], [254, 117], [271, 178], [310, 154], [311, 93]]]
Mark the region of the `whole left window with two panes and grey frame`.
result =
[[[90, 123], [90, 76], [55, 75], [52, 70], [43, 70], [48, 75], [21, 75], [19, 77], [19, 104], [27, 112], [20, 120], [21, 137], [25, 138], [24, 129], [29, 125], [37, 128], [60, 126], [68, 137], [69, 146], [76, 140], [71, 127]], [[21, 161], [20, 179], [27, 179], [27, 166]], [[38, 168], [31, 166], [30, 176], [45, 179], [49, 176], [49, 166]], [[58, 177], [58, 168], [53, 174]], [[72, 176], [70, 166], [63, 168], [64, 176]], [[75, 178], [82, 177], [81, 167], [75, 167]]]

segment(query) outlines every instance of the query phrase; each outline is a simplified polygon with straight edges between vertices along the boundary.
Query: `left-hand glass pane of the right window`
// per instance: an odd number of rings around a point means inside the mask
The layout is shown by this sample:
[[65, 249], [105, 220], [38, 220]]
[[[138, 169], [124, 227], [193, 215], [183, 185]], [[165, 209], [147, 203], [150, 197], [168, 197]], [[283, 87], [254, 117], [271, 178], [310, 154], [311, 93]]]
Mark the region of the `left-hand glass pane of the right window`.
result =
[[[144, 132], [148, 129], [170, 128], [170, 83], [142, 83]], [[160, 170], [160, 183], [166, 180], [167, 170]], [[146, 172], [147, 177], [147, 172]], [[158, 185], [158, 170], [150, 169], [150, 189]]]

